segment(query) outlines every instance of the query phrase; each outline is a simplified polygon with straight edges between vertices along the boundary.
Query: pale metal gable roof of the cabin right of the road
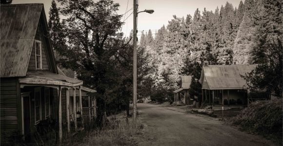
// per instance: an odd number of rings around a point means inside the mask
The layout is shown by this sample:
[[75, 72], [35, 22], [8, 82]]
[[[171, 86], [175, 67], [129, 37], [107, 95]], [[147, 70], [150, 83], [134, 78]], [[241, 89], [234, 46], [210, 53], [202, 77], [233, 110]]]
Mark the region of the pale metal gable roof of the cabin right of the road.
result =
[[202, 67], [201, 83], [206, 78], [209, 89], [243, 89], [241, 75], [250, 73], [256, 65], [208, 65]]

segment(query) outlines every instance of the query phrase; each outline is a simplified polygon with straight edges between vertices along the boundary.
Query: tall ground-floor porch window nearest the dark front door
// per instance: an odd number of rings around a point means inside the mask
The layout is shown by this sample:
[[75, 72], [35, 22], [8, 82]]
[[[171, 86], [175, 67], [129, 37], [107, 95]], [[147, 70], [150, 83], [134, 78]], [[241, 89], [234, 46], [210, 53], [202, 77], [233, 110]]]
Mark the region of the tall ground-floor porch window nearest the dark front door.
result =
[[35, 89], [35, 124], [41, 120], [40, 88]]

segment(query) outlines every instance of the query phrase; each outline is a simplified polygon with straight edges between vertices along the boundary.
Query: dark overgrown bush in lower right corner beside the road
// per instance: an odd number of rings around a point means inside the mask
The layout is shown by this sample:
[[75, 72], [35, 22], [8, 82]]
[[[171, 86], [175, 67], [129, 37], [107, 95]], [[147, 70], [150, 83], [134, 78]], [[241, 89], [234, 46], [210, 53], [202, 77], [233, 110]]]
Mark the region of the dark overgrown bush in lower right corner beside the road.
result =
[[253, 102], [231, 121], [243, 130], [271, 139], [279, 138], [282, 142], [282, 118], [282, 99], [275, 99]]

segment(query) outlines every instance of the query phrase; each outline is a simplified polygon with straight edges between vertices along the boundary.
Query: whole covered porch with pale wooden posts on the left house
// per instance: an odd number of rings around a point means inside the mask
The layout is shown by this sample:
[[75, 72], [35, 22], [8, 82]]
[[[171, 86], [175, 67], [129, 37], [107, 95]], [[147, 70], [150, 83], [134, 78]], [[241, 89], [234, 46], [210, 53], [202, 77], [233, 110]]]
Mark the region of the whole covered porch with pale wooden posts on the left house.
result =
[[[28, 76], [20, 78], [22, 134], [29, 139], [40, 127], [54, 127], [62, 139], [84, 129], [84, 124], [95, 116], [94, 90], [85, 88], [82, 81], [59, 74], [53, 77]], [[61, 80], [59, 80], [61, 79]], [[63, 80], [63, 81], [62, 81]], [[52, 123], [46, 124], [48, 121]]]

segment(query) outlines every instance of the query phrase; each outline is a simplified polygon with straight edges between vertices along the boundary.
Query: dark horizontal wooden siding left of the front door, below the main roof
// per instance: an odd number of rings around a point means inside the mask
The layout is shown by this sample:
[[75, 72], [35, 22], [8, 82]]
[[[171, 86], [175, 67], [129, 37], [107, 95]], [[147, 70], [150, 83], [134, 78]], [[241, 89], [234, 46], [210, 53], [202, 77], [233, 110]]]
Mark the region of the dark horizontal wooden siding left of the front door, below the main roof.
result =
[[[19, 85], [17, 78], [0, 79], [0, 128], [1, 141], [9, 134], [21, 129], [19, 116], [20, 102]], [[21, 115], [21, 114], [20, 114]], [[3, 139], [4, 138], [4, 139]]]

